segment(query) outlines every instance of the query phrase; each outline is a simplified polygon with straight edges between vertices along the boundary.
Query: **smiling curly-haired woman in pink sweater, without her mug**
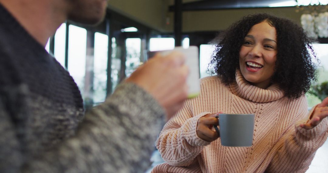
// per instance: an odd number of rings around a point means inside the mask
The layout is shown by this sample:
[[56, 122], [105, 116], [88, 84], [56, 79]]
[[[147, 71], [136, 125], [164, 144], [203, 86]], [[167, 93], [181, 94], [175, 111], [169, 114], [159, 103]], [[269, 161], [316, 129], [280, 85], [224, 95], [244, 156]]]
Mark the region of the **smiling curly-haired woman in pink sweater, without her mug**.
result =
[[[328, 136], [328, 98], [308, 112], [315, 79], [311, 40], [292, 21], [256, 14], [217, 38], [198, 97], [164, 126], [153, 172], [305, 172]], [[212, 126], [224, 114], [254, 114], [250, 147], [226, 147]], [[222, 124], [223, 122], [220, 122]]]

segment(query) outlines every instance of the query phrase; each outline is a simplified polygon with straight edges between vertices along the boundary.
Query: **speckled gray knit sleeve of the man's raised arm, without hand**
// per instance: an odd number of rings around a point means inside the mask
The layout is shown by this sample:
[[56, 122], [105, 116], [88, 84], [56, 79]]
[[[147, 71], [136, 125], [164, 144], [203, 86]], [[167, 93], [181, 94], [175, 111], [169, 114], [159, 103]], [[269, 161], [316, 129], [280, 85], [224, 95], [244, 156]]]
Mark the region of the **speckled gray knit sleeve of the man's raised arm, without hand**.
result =
[[123, 84], [86, 114], [72, 138], [26, 158], [9, 113], [2, 108], [0, 104], [0, 172], [144, 173], [165, 119], [151, 95], [134, 84]]

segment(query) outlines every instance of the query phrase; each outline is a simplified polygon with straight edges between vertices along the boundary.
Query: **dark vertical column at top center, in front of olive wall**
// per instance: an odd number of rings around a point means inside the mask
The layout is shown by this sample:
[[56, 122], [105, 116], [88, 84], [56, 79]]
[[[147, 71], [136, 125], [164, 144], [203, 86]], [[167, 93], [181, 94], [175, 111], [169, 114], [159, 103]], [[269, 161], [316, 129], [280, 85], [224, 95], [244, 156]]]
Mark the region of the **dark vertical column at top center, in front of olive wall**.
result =
[[175, 46], [182, 43], [182, 0], [175, 0], [174, 6], [174, 39]]

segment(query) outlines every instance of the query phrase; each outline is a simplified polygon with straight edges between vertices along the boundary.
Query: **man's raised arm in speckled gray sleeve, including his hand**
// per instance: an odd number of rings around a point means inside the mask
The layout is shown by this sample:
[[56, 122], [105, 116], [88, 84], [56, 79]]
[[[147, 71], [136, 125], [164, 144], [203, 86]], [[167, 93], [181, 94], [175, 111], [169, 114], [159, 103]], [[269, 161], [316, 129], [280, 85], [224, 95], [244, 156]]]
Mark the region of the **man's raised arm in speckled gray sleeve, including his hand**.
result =
[[144, 172], [165, 118], [187, 97], [181, 88], [188, 69], [176, 58], [150, 60], [104, 104], [86, 114], [72, 138], [33, 157], [20, 150], [10, 113], [0, 107], [0, 172]]

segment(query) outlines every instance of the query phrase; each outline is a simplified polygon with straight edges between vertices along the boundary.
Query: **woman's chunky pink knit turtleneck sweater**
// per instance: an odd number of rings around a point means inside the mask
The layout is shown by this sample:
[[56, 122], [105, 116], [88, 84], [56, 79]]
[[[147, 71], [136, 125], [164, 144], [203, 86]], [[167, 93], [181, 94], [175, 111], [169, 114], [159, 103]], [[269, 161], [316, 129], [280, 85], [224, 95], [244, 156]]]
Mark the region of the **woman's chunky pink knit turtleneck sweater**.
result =
[[[250, 85], [239, 71], [236, 83], [221, 83], [217, 76], [201, 79], [200, 95], [164, 126], [156, 147], [166, 163], [158, 172], [305, 172], [316, 150], [328, 136], [328, 118], [311, 130], [299, 125], [311, 115], [305, 96], [283, 97], [277, 85], [261, 89]], [[255, 114], [251, 147], [227, 147], [220, 138], [211, 143], [196, 135], [197, 121], [208, 113]]]

